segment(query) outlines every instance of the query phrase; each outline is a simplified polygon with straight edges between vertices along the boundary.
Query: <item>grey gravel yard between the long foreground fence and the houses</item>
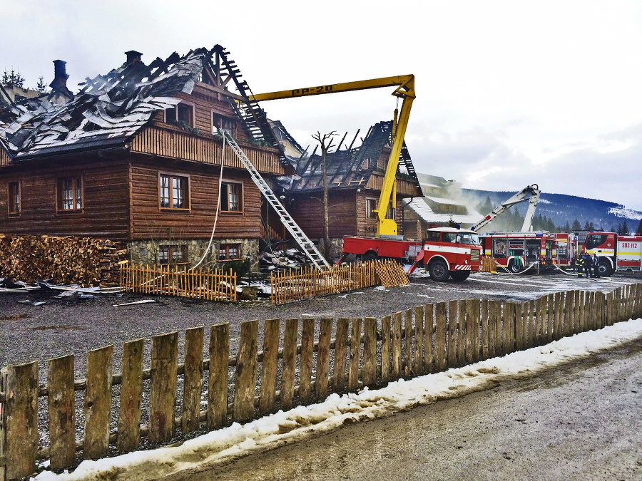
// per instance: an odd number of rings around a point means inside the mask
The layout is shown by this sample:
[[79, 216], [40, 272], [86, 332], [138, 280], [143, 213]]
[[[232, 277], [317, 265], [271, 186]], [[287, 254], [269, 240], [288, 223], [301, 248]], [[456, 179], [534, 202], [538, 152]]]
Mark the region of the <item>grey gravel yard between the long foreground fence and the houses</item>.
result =
[[[73, 354], [76, 378], [85, 376], [86, 352], [113, 344], [113, 372], [121, 371], [122, 345], [136, 338], [146, 339], [145, 368], [149, 368], [151, 337], [171, 331], [179, 332], [179, 360], [183, 359], [185, 329], [206, 326], [205, 357], [208, 356], [208, 326], [230, 323], [230, 351], [238, 348], [240, 323], [258, 319], [287, 319], [304, 317], [376, 317], [437, 301], [453, 299], [498, 299], [524, 301], [554, 291], [587, 289], [611, 291], [623, 284], [642, 281], [642, 276], [618, 274], [606, 279], [577, 279], [562, 273], [539, 276], [509, 276], [508, 274], [472, 275], [464, 283], [435, 283], [426, 276], [414, 276], [411, 284], [392, 289], [370, 288], [347, 294], [298, 301], [285, 306], [270, 306], [269, 299], [245, 301], [238, 304], [192, 301], [173, 297], [151, 297], [138, 294], [96, 294], [54, 299], [46, 291], [0, 292], [0, 366], [37, 360], [41, 383], [46, 381], [46, 360]], [[153, 304], [114, 307], [128, 301], [155, 299]], [[34, 306], [19, 301], [46, 301]], [[263, 339], [263, 322], [259, 323], [259, 348]], [[182, 362], [182, 361], [179, 361]], [[260, 372], [259, 372], [260, 376]], [[178, 410], [182, 397], [182, 377], [179, 376]], [[230, 380], [233, 382], [233, 380]], [[207, 386], [206, 381], [204, 386]], [[117, 394], [118, 386], [114, 386]], [[116, 396], [114, 396], [116, 398]], [[206, 400], [206, 394], [203, 393]], [[78, 413], [76, 425], [81, 434], [82, 393], [76, 393]], [[143, 399], [145, 412], [146, 399]], [[47, 443], [44, 416], [45, 399], [41, 398], [41, 441]], [[112, 410], [112, 428], [116, 427], [118, 407]], [[146, 419], [143, 419], [143, 423]], [[180, 435], [175, 440], [183, 439]], [[147, 447], [147, 445], [144, 445]], [[151, 446], [151, 445], [149, 445]]]

